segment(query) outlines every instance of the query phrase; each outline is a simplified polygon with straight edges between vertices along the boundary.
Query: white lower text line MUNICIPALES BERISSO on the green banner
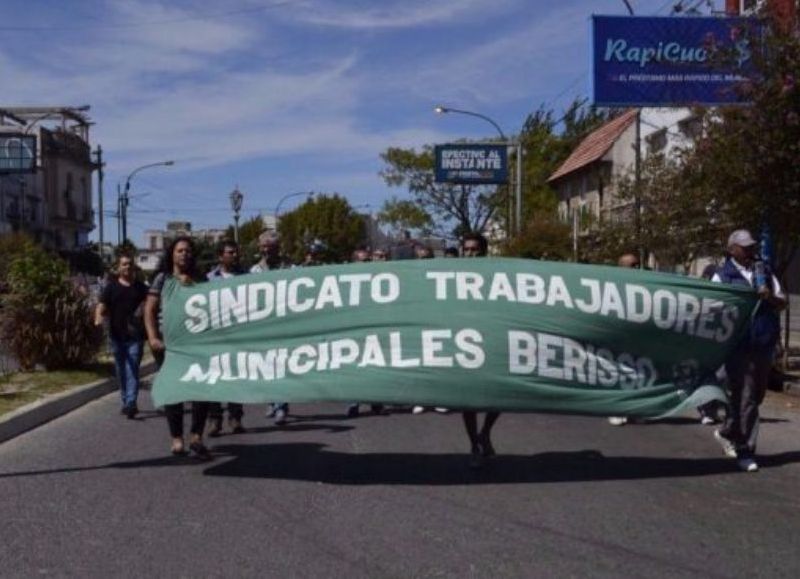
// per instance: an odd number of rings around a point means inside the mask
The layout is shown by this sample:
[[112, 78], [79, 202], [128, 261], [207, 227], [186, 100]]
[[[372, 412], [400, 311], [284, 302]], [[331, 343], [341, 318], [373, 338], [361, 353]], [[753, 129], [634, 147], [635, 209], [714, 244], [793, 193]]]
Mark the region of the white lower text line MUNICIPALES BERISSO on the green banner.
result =
[[[216, 384], [238, 380], [280, 380], [292, 374], [338, 370], [346, 366], [366, 368], [453, 368], [477, 370], [486, 362], [483, 335], [473, 328], [424, 330], [419, 340], [412, 339], [419, 356], [404, 355], [400, 332], [388, 336], [369, 334], [363, 339], [340, 338], [295, 348], [271, 348], [262, 352], [215, 354], [204, 369], [192, 363], [181, 382]], [[388, 346], [388, 347], [386, 347]], [[446, 354], [452, 350], [455, 353]], [[407, 350], [406, 350], [407, 351]], [[649, 358], [621, 353], [616, 357], [605, 348], [595, 348], [576, 340], [523, 331], [508, 332], [508, 371], [511, 374], [537, 374], [592, 386], [623, 390], [655, 384], [658, 374]]]

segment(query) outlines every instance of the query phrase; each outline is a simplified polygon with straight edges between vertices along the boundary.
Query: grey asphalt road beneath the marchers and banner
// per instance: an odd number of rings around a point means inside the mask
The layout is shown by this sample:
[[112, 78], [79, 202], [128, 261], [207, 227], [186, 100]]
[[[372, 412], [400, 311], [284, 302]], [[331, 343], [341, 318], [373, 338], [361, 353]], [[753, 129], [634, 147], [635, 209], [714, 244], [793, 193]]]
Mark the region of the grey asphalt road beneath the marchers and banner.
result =
[[109, 395], [0, 445], [0, 575], [797, 577], [796, 406], [767, 403], [756, 474], [694, 420], [533, 414], [475, 473], [457, 414], [247, 407], [198, 463]]

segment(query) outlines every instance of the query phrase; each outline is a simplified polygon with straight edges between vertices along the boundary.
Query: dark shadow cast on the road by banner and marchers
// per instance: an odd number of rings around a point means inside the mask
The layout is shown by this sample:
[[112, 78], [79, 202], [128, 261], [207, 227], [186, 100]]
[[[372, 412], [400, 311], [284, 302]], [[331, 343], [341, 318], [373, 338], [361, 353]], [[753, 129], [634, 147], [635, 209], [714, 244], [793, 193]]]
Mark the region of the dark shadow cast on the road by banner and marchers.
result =
[[[215, 462], [192, 457], [114, 462], [97, 466], [0, 473], [0, 479], [81, 473], [106, 469], [206, 466], [203, 474], [324, 482], [337, 485], [463, 485], [504, 483], [592, 482], [737, 474], [725, 458], [650, 458], [604, 456], [596, 450], [545, 452], [533, 456], [498, 456], [480, 471], [467, 468], [463, 454], [347, 454], [323, 444], [291, 443], [214, 448]], [[800, 462], [800, 451], [759, 457], [763, 469]]]

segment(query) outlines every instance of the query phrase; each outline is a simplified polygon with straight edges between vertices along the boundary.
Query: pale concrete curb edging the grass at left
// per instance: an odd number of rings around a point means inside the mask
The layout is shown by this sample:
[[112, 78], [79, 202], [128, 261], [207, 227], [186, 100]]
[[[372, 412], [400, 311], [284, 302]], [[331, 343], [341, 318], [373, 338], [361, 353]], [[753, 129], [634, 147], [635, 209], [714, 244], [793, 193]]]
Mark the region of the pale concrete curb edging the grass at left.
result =
[[[144, 378], [156, 369], [155, 362], [143, 365], [139, 375]], [[0, 443], [32, 430], [54, 418], [83, 406], [117, 390], [116, 378], [105, 378], [82, 386], [76, 386], [66, 392], [51, 394], [39, 400], [21, 406], [0, 417]]]

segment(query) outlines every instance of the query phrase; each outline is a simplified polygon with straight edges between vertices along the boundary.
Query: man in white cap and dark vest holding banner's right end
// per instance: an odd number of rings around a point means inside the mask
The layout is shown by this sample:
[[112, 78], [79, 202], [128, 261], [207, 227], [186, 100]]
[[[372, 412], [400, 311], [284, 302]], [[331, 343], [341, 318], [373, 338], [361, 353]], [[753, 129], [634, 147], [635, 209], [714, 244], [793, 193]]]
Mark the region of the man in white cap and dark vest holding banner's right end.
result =
[[757, 260], [756, 240], [746, 229], [728, 237], [728, 257], [711, 280], [754, 288], [761, 299], [748, 332], [725, 362], [731, 403], [725, 424], [714, 432], [725, 454], [735, 457], [741, 470], [755, 472], [758, 407], [767, 391], [781, 333], [778, 312], [786, 306], [786, 296], [769, 264]]

